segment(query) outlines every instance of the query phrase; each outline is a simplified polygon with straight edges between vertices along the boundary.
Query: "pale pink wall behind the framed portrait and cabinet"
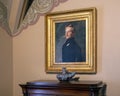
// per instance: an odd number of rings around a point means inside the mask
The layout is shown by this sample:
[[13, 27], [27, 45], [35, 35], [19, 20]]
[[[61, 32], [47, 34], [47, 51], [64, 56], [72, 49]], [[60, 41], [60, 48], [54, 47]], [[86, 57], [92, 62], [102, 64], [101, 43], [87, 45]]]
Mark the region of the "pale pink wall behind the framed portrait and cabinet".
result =
[[[108, 84], [107, 96], [120, 96], [120, 1], [68, 0], [53, 11], [96, 7], [98, 11], [96, 75], [78, 75], [81, 80], [103, 80]], [[44, 16], [13, 38], [14, 96], [22, 96], [20, 83], [37, 79], [56, 79], [45, 73]]]

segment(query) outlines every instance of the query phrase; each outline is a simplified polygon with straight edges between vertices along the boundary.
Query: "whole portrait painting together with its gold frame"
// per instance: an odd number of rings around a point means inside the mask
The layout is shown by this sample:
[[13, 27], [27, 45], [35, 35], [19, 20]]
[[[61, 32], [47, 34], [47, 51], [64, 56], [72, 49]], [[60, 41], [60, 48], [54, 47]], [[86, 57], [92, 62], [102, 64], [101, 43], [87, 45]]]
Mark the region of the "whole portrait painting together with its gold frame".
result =
[[48, 13], [45, 26], [46, 72], [96, 73], [96, 8]]

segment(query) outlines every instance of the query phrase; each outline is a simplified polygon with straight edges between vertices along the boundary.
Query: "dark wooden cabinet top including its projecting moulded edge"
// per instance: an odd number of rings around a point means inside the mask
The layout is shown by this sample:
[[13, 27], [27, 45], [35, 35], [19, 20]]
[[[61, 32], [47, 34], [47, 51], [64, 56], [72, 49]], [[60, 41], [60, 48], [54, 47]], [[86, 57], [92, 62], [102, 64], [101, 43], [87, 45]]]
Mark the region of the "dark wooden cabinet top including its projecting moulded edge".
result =
[[35, 80], [19, 84], [22, 88], [73, 88], [73, 89], [89, 89], [102, 88], [106, 86], [102, 81], [69, 81], [59, 82], [58, 80]]

